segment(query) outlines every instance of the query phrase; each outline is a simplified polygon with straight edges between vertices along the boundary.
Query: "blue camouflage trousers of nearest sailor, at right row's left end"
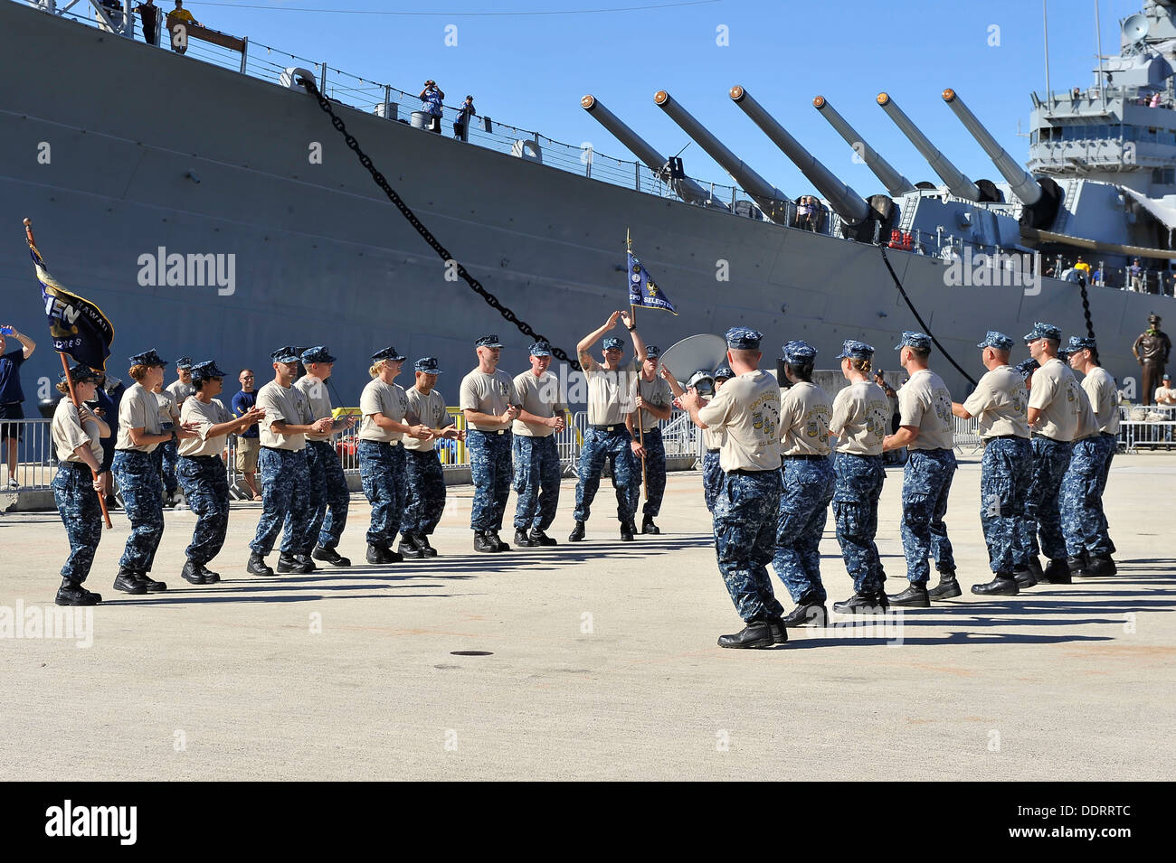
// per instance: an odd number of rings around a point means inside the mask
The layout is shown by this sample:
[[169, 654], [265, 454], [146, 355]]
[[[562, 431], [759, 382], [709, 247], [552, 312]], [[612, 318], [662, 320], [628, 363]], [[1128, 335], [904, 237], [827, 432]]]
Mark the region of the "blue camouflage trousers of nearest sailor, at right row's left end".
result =
[[768, 564], [776, 546], [780, 471], [727, 473], [715, 499], [719, 572], [744, 621], [779, 618]]

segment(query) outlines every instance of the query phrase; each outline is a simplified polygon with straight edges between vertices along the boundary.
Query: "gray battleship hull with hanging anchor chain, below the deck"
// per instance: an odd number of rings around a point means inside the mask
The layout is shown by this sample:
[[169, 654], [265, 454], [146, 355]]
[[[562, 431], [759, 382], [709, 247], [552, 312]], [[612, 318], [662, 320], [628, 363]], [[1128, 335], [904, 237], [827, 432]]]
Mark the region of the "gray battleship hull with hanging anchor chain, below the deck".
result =
[[[874, 247], [339, 110], [453, 256], [569, 355], [627, 304], [626, 230], [680, 311], [639, 312], [647, 342], [749, 325], [763, 330], [769, 355], [804, 338], [818, 365], [833, 368], [841, 342], [860, 338], [880, 349], [876, 365], [891, 369], [896, 333], [918, 329]], [[321, 164], [308, 157], [313, 142]], [[24, 375], [29, 399], [60, 360], [48, 349], [24, 216], [52, 272], [114, 323], [115, 375], [128, 355], [154, 346], [169, 359], [215, 358], [233, 373], [253, 366], [260, 384], [276, 346], [327, 344], [340, 357], [342, 400], [356, 404], [367, 357], [394, 344], [409, 358], [439, 357], [449, 372], [440, 389], [454, 402], [474, 365], [473, 341], [486, 332], [506, 344], [505, 369], [527, 368], [529, 341], [465, 283], [446, 279], [308, 96], [11, 2], [0, 2], [0, 201], [2, 317], [42, 344]], [[141, 285], [140, 256], [161, 247], [235, 255], [234, 291]], [[974, 377], [988, 329], [1018, 338], [1049, 321], [1085, 332], [1074, 284], [1043, 279], [1036, 296], [948, 286], [943, 262], [889, 255], [928, 328]], [[716, 278], [719, 262], [729, 281]], [[1121, 380], [1136, 375], [1130, 345], [1148, 312], [1167, 303], [1090, 289], [1103, 362]], [[963, 395], [963, 378], [942, 359], [935, 365]]]

